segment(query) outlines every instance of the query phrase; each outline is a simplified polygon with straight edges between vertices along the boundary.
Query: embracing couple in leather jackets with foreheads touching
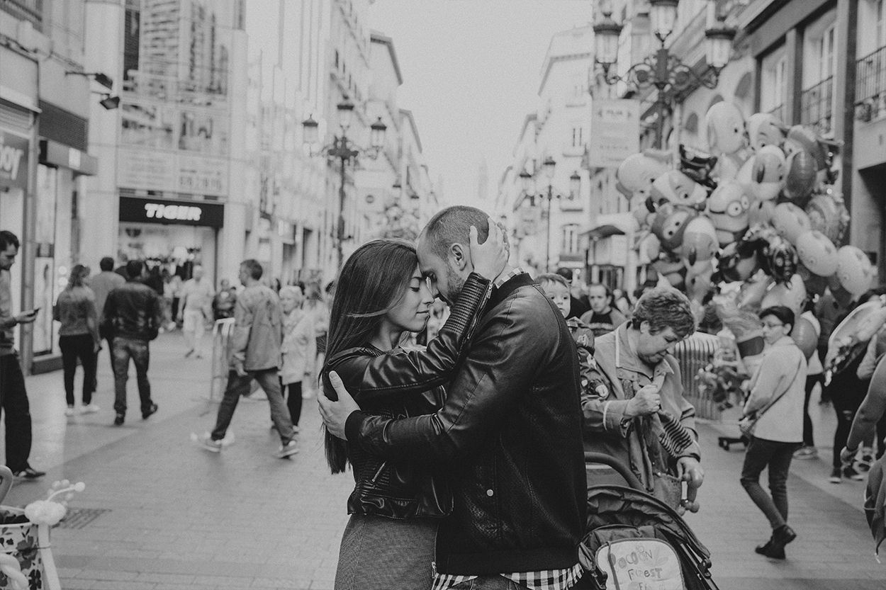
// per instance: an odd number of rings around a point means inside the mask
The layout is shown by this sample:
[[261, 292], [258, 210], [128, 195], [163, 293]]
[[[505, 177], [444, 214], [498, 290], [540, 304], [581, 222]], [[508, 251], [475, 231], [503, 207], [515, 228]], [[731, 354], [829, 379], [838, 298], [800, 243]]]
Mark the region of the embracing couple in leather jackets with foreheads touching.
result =
[[[565, 590], [581, 575], [579, 360], [486, 213], [361, 246], [332, 303], [320, 406], [333, 472], [356, 485], [335, 587]], [[435, 297], [451, 307], [426, 350]]]

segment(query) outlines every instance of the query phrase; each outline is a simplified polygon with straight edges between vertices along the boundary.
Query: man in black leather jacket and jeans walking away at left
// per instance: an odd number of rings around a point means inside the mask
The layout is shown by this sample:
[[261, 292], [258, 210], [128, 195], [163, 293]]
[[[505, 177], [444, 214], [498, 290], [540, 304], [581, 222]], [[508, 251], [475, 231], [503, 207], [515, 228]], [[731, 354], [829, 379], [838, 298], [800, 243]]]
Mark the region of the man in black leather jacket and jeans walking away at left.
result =
[[140, 260], [126, 263], [129, 277], [125, 284], [108, 294], [102, 313], [104, 330], [111, 338], [113, 356], [113, 408], [117, 415], [114, 425], [126, 421], [126, 382], [129, 378], [129, 360], [136, 366], [136, 384], [142, 409], [142, 419], [157, 412], [151, 399], [148, 365], [151, 360], [150, 343], [157, 338], [163, 322], [157, 291], [144, 284], [144, 265]]

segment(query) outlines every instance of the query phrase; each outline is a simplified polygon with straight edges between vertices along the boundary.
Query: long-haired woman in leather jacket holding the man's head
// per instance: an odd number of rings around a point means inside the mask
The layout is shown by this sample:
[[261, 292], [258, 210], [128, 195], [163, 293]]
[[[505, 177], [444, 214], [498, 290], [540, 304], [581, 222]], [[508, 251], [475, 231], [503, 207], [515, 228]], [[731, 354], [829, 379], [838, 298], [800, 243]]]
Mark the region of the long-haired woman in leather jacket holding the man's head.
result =
[[[400, 348], [404, 335], [424, 330], [434, 301], [415, 247], [376, 240], [348, 258], [331, 309], [323, 366], [327, 395], [334, 395], [329, 375], [335, 371], [370, 414], [424, 415], [443, 405], [443, 385], [454, 376], [491, 281], [507, 261], [501, 231], [492, 222], [490, 227], [483, 245], [471, 231], [475, 272], [438, 338], [423, 350]], [[350, 463], [356, 482], [347, 502], [351, 518], [342, 536], [336, 590], [430, 588], [437, 522], [452, 509], [446, 477], [371, 456], [329, 433], [326, 456], [333, 473]]]

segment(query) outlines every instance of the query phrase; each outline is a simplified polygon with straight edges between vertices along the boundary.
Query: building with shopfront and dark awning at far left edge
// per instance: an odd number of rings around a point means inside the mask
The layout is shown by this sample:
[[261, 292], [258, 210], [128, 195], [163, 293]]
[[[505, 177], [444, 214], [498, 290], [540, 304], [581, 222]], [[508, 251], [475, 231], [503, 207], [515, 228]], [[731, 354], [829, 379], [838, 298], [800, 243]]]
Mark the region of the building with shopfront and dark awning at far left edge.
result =
[[26, 373], [59, 364], [52, 306], [84, 260], [90, 89], [101, 87], [84, 69], [83, 11], [83, 0], [0, 4], [0, 229], [21, 241], [13, 309], [41, 309], [17, 333]]

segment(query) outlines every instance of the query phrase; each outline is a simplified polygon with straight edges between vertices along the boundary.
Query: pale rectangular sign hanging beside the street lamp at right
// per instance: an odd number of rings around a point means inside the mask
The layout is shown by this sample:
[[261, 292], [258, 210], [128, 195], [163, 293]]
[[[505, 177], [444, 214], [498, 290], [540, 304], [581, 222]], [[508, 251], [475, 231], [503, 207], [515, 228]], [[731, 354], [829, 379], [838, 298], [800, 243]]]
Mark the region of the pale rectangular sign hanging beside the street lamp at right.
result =
[[595, 99], [587, 159], [592, 167], [618, 167], [640, 151], [640, 103], [631, 99]]

